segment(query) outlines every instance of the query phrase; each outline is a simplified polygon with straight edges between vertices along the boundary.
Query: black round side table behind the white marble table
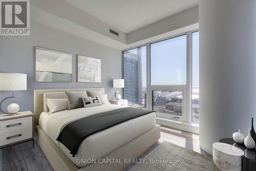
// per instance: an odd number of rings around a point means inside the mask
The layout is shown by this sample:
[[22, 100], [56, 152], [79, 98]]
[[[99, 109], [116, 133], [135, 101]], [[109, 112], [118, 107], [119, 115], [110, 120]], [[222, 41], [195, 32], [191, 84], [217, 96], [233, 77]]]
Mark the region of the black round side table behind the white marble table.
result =
[[232, 138], [223, 138], [220, 139], [219, 142], [227, 143], [233, 146], [236, 146], [244, 151], [243, 162], [242, 162], [242, 170], [243, 171], [255, 171], [256, 170], [256, 150], [248, 149], [244, 146], [244, 144], [239, 144], [234, 141]]

